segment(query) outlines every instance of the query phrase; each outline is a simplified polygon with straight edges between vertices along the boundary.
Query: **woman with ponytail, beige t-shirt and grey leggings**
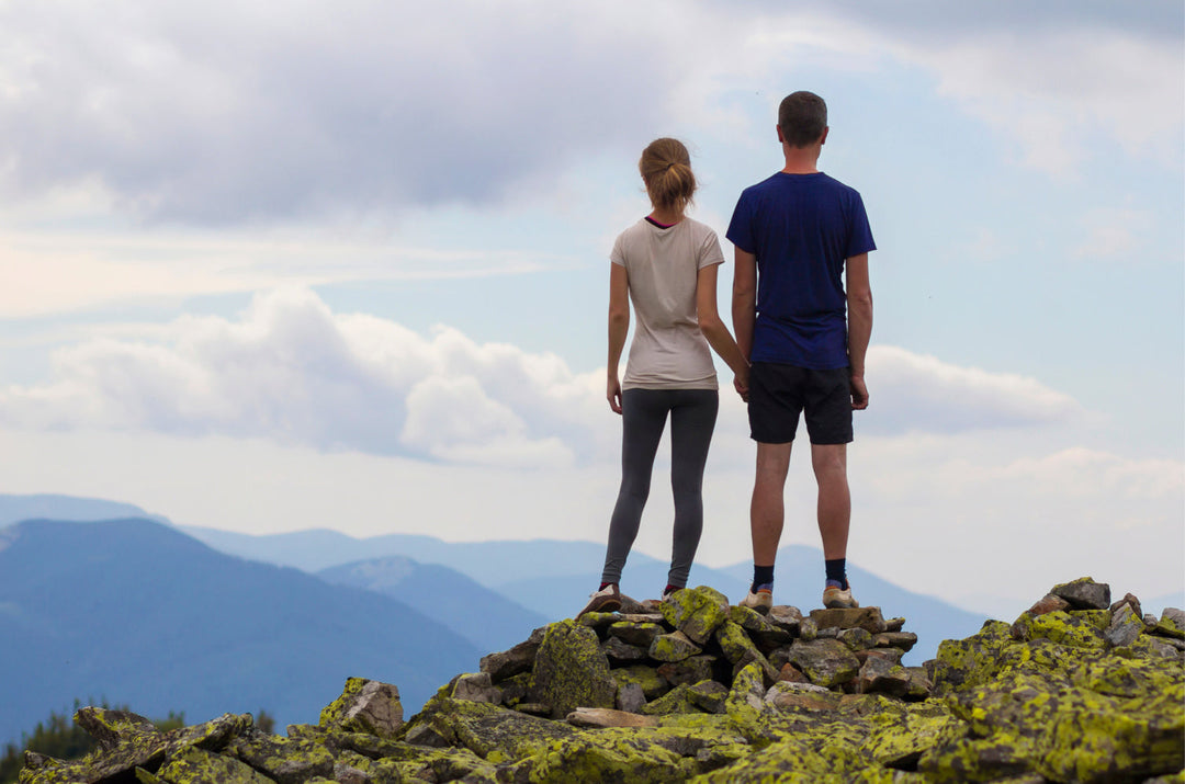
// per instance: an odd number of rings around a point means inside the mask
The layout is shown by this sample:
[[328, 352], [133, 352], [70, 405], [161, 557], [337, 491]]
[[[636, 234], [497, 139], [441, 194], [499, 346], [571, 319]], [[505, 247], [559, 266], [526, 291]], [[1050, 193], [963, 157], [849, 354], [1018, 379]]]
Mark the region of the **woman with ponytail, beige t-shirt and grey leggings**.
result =
[[[711, 229], [684, 214], [696, 192], [687, 148], [674, 139], [658, 139], [642, 152], [638, 168], [653, 210], [617, 237], [609, 268], [607, 397], [622, 416], [621, 489], [609, 522], [601, 587], [579, 615], [621, 608], [617, 583], [638, 535], [667, 416], [674, 542], [662, 598], [687, 584], [703, 529], [704, 463], [719, 406], [709, 345], [732, 368], [737, 390], [748, 387], [749, 364], [716, 308], [716, 275], [724, 262], [720, 243]], [[638, 328], [626, 377], [619, 380], [630, 302]]]

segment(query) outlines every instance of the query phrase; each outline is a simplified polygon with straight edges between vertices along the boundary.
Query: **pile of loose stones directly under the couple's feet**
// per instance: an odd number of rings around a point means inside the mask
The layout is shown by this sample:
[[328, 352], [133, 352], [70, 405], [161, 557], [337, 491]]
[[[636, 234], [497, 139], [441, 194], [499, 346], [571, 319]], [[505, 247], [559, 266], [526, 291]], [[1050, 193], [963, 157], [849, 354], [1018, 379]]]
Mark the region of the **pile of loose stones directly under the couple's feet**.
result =
[[[647, 611], [651, 610], [651, 611]], [[588, 613], [538, 629], [513, 649], [486, 656], [453, 694], [533, 715], [563, 719], [578, 707], [641, 715], [723, 713], [737, 674], [756, 664], [771, 690], [764, 700], [838, 705], [843, 694], [923, 700], [925, 670], [902, 667], [917, 642], [904, 618], [879, 608], [812, 610], [774, 606], [768, 615], [730, 606], [710, 587], [666, 602], [626, 600], [621, 611]], [[615, 720], [601, 714], [606, 726]], [[584, 714], [581, 721], [592, 721]]]

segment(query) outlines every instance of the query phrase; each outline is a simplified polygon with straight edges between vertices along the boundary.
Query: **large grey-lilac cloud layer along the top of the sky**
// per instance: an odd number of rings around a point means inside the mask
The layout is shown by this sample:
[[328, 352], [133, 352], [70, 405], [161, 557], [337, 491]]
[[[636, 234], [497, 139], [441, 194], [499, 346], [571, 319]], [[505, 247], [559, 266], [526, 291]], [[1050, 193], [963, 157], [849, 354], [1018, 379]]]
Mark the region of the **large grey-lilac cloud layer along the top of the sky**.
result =
[[4, 4], [0, 193], [169, 225], [498, 205], [655, 128], [735, 131], [812, 52], [925, 68], [1039, 168], [1097, 133], [1179, 163], [1179, 9], [1040, 5], [660, 2], [655, 36], [624, 2]]

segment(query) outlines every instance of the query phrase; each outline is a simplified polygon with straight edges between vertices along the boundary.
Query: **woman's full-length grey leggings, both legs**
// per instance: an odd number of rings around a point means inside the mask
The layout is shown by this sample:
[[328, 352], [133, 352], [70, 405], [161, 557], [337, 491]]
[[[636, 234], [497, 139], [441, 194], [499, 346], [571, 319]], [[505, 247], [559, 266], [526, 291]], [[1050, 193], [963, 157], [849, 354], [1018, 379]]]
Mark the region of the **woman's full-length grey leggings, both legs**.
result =
[[621, 570], [638, 536], [642, 508], [651, 494], [654, 455], [670, 413], [674, 541], [667, 583], [675, 587], [687, 584], [704, 528], [704, 463], [719, 401], [716, 390], [626, 390], [621, 393], [621, 490], [609, 521], [602, 583], [621, 581]]

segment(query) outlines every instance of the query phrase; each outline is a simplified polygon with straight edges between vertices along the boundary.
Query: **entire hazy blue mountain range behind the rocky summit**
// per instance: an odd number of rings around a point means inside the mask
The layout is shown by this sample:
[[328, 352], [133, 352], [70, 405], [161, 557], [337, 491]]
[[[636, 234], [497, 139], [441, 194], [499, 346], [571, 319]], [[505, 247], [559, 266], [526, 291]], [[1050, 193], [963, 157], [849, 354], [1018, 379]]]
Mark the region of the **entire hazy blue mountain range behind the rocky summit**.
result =
[[[575, 615], [597, 586], [603, 547], [328, 529], [255, 536], [175, 527], [128, 503], [0, 495], [0, 744], [75, 699], [184, 711], [187, 721], [260, 708], [281, 726], [315, 721], [353, 675], [398, 685], [411, 713], [481, 655]], [[818, 606], [821, 564], [815, 548], [782, 548], [775, 600]], [[750, 568], [697, 564], [688, 584], [735, 602]], [[858, 565], [848, 573], [864, 604], [904, 616], [918, 635], [907, 664], [985, 621]], [[656, 597], [665, 584], [666, 564], [630, 557], [626, 593]]]

